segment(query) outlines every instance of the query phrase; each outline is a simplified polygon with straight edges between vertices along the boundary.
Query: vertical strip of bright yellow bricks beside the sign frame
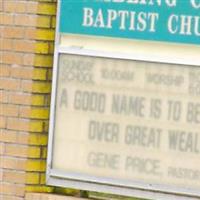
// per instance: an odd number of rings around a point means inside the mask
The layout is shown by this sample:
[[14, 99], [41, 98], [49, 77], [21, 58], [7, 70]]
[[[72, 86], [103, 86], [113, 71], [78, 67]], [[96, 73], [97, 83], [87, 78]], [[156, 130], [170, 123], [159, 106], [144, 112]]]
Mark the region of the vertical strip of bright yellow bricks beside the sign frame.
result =
[[54, 0], [38, 1], [36, 30], [30, 30], [30, 38], [36, 41], [33, 59], [35, 80], [31, 85], [25, 84], [26, 91], [39, 98], [33, 97], [32, 102], [38, 105], [22, 108], [20, 114], [31, 119], [29, 126], [30, 137], [28, 157], [26, 163], [26, 192], [54, 192], [53, 187], [45, 185], [47, 135], [49, 119], [49, 102], [51, 92], [51, 74], [55, 25], [53, 18], [56, 14]]

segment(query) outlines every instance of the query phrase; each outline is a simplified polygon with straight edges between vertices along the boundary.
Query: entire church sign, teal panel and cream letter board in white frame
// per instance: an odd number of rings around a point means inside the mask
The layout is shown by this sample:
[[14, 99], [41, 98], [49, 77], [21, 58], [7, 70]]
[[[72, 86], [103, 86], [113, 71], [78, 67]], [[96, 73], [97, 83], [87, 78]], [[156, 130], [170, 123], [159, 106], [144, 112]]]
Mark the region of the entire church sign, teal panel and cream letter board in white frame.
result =
[[47, 183], [199, 199], [200, 1], [58, 5]]

